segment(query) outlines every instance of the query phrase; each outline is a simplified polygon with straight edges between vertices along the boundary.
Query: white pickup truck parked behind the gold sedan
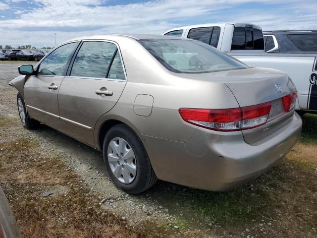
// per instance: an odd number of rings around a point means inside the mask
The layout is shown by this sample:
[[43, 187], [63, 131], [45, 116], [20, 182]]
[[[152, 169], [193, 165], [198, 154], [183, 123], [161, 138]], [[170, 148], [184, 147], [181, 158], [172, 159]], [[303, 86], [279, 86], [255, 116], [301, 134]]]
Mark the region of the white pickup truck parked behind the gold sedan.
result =
[[262, 29], [246, 23], [184, 26], [163, 35], [199, 40], [248, 65], [286, 72], [297, 88], [296, 110], [301, 114], [317, 113], [317, 52], [265, 52]]

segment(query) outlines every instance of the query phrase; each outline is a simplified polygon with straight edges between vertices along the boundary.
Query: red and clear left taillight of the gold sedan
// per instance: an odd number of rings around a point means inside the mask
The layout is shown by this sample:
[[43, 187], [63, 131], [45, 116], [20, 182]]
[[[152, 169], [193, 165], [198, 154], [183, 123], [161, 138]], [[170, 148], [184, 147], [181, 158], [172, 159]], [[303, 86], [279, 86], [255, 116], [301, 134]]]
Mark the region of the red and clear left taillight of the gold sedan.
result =
[[254, 128], [266, 123], [271, 103], [231, 109], [181, 108], [179, 113], [188, 123], [217, 131]]

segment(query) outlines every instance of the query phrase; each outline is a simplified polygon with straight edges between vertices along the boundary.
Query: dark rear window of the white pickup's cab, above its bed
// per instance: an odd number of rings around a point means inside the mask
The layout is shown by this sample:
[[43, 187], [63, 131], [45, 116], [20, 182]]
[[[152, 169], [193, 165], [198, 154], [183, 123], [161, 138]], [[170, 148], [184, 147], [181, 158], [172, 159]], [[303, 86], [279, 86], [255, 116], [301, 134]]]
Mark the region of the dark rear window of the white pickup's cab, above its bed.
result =
[[231, 50], [264, 50], [262, 31], [249, 27], [235, 27]]

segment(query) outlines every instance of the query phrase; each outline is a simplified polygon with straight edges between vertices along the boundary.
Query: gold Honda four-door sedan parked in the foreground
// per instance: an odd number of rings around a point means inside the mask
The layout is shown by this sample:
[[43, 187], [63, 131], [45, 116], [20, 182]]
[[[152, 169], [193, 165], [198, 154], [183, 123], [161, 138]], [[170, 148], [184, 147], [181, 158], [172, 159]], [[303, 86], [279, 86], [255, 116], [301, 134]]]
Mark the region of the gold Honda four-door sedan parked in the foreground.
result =
[[301, 138], [289, 77], [176, 37], [72, 39], [19, 67], [22, 125], [41, 121], [103, 151], [114, 184], [157, 178], [222, 191], [260, 176]]

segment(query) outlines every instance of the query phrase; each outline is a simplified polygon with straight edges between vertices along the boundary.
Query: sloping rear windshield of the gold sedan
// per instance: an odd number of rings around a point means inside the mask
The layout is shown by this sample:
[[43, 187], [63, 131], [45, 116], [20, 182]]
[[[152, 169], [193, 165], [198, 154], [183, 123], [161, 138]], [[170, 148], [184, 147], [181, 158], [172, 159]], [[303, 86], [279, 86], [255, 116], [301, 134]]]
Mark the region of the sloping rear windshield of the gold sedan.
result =
[[208, 73], [249, 67], [199, 41], [151, 39], [139, 43], [172, 72]]

